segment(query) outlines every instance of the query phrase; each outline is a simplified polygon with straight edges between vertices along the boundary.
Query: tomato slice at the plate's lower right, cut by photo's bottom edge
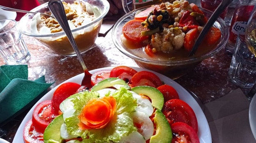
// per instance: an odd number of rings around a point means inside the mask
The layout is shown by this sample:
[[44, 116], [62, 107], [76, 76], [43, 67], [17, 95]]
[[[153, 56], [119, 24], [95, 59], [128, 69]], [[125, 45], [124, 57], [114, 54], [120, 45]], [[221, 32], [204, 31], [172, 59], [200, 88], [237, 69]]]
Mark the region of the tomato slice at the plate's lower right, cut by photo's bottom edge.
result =
[[200, 143], [197, 132], [192, 127], [183, 122], [171, 124], [171, 143]]

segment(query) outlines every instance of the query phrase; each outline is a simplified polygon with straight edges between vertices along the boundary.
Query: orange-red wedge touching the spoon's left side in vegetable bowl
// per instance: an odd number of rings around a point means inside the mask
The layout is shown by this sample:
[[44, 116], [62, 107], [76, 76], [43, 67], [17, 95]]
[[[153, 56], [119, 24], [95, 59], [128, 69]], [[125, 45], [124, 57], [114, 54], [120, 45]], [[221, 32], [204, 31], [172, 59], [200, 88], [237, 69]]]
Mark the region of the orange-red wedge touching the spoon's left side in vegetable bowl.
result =
[[192, 50], [192, 47], [194, 46], [194, 43], [196, 42], [198, 36], [199, 30], [197, 28], [190, 29], [186, 33], [183, 46], [187, 51]]

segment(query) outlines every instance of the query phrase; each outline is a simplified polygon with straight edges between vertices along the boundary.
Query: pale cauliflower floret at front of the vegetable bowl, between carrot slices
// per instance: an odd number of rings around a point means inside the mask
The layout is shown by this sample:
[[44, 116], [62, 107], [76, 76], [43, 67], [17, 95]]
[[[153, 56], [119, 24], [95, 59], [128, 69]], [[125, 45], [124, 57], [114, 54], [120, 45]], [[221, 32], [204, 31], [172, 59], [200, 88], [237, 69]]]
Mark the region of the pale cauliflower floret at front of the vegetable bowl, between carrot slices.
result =
[[175, 28], [164, 28], [164, 30], [158, 34], [154, 34], [151, 38], [151, 45], [156, 51], [171, 52], [183, 47], [185, 33]]

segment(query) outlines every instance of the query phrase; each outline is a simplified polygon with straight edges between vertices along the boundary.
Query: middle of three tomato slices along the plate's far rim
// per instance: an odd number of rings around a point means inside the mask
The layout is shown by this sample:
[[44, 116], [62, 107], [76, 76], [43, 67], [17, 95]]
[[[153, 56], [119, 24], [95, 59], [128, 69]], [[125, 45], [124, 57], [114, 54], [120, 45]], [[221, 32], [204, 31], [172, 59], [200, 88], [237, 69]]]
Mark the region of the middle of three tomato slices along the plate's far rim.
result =
[[112, 78], [121, 78], [125, 80], [127, 83], [131, 83], [131, 79], [134, 74], [136, 74], [137, 71], [131, 67], [127, 66], [118, 66], [114, 67], [110, 71], [110, 77]]

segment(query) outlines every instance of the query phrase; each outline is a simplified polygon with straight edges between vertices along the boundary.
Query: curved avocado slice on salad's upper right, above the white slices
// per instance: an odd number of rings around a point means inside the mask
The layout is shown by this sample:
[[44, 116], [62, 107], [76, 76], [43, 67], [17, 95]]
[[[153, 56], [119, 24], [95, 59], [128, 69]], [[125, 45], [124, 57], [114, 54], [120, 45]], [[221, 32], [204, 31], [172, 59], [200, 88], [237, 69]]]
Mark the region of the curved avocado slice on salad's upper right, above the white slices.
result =
[[137, 87], [133, 87], [132, 91], [137, 94], [143, 94], [145, 96], [148, 96], [151, 99], [152, 106], [155, 107], [156, 109], [162, 110], [162, 107], [164, 105], [164, 96], [155, 87], [137, 86]]

